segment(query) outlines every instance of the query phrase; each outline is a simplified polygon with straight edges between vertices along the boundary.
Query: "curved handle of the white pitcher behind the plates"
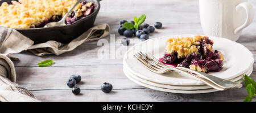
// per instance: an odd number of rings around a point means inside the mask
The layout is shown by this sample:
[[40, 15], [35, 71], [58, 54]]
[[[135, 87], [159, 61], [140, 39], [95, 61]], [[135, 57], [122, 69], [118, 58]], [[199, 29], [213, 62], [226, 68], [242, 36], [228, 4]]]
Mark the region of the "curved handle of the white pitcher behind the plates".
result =
[[242, 2], [236, 6], [237, 11], [242, 10], [242, 8], [245, 9], [247, 18], [243, 25], [235, 29], [234, 34], [237, 34], [241, 32], [242, 29], [248, 27], [253, 22], [253, 19], [254, 19], [254, 9], [249, 2]]

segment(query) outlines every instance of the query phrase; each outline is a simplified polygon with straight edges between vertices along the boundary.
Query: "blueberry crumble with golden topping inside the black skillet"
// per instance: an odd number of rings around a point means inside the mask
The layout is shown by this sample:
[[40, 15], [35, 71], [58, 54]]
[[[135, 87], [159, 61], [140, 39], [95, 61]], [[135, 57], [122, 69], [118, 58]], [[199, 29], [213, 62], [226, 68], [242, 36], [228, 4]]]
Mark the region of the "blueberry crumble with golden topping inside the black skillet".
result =
[[[76, 0], [19, 0], [0, 6], [0, 26], [8, 28], [40, 28], [49, 22], [59, 21], [68, 12]], [[82, 1], [66, 19], [66, 24], [92, 14], [92, 2]]]

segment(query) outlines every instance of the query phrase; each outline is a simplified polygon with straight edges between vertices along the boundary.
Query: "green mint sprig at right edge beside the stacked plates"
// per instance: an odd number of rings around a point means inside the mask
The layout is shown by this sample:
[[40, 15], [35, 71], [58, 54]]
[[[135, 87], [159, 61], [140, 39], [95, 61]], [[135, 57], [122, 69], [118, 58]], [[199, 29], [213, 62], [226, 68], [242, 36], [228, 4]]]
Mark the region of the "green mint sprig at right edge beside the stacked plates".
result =
[[249, 95], [247, 95], [243, 102], [251, 102], [253, 100], [253, 97], [256, 95], [256, 82], [247, 75], [245, 75], [244, 78], [246, 90]]

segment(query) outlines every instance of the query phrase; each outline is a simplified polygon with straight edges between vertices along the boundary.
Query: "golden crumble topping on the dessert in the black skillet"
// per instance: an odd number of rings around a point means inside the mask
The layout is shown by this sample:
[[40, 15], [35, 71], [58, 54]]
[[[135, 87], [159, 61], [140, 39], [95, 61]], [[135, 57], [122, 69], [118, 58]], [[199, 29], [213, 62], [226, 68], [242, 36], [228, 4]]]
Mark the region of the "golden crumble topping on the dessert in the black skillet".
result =
[[[11, 5], [3, 2], [0, 6], [0, 25], [8, 28], [30, 28], [42, 21], [56, 18], [55, 15], [64, 16], [76, 0], [19, 0], [11, 1]], [[87, 3], [91, 6], [92, 3]], [[86, 4], [86, 6], [87, 6]], [[80, 9], [81, 3], [76, 7]], [[84, 7], [82, 10], [86, 10]], [[76, 15], [81, 15], [77, 11]]]

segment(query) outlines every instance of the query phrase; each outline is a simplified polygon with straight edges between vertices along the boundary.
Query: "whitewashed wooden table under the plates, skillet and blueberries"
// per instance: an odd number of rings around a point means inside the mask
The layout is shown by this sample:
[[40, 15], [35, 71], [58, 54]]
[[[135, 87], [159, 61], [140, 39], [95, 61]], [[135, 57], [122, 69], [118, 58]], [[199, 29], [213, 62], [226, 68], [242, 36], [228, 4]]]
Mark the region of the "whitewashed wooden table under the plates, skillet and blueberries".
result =
[[[161, 21], [164, 27], [150, 34], [150, 38], [167, 34], [203, 34], [197, 2], [197, 0], [103, 0], [95, 24], [108, 23], [112, 28], [111, 34], [115, 34], [115, 40], [119, 40], [124, 38], [117, 32], [120, 20], [132, 20], [134, 16], [146, 14], [146, 23], [154, 24], [156, 21]], [[250, 0], [250, 2], [256, 8], [256, 1]], [[256, 20], [244, 29], [240, 40], [237, 41], [245, 45], [254, 54], [254, 58], [255, 29]], [[105, 39], [110, 42], [110, 36]], [[120, 46], [117, 44], [115, 48], [118, 49]], [[39, 57], [27, 51], [14, 54], [20, 58], [20, 62], [15, 62], [18, 84], [31, 90], [40, 101], [243, 101], [247, 95], [245, 86], [241, 89], [207, 94], [176, 94], [144, 88], [124, 75], [122, 56], [115, 59], [99, 59], [97, 56], [99, 49], [102, 49], [102, 46], [97, 46], [97, 41], [94, 41], [60, 56]], [[38, 62], [47, 59], [55, 60], [55, 64], [51, 67], [37, 66]], [[256, 63], [251, 75], [254, 80], [256, 80], [255, 68]], [[82, 82], [78, 85], [81, 88], [81, 95], [72, 94], [71, 88], [66, 85], [69, 76], [73, 74], [82, 76]], [[113, 84], [112, 93], [105, 94], [100, 90], [103, 82]]]

